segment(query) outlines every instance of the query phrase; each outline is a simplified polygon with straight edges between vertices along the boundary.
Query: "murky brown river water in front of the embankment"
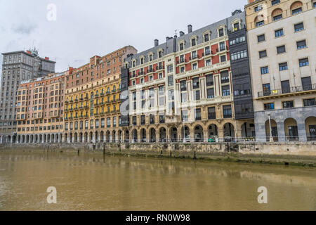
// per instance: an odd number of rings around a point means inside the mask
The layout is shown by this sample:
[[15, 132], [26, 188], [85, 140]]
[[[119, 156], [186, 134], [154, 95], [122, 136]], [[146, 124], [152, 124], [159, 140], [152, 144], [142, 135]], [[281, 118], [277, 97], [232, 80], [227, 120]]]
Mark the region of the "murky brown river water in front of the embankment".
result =
[[0, 210], [316, 210], [316, 169], [6, 151]]

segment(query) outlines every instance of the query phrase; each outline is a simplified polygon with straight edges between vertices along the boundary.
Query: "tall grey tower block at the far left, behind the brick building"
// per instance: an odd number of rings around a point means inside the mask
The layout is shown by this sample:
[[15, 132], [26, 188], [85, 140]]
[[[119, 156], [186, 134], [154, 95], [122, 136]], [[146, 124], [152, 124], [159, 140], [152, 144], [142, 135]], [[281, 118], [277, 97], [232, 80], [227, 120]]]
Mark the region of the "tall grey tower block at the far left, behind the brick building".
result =
[[15, 141], [15, 104], [20, 82], [55, 72], [55, 62], [47, 57], [39, 57], [36, 49], [13, 51], [2, 55], [0, 143], [11, 143]]

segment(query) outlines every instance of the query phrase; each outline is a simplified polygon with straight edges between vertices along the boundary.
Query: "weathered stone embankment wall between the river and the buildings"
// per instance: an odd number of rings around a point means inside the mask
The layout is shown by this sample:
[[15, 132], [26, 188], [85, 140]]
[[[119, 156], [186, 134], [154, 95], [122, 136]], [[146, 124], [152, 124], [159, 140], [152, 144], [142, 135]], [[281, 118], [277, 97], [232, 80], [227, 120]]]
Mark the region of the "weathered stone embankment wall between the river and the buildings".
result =
[[316, 167], [316, 143], [27, 143], [0, 150], [51, 150]]

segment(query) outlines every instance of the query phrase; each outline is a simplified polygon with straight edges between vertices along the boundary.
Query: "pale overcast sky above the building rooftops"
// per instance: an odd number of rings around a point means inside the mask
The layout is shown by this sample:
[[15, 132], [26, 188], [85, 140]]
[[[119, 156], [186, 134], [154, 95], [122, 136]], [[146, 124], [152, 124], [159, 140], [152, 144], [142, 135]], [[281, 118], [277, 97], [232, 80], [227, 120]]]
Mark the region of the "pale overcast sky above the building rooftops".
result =
[[[77, 68], [95, 55], [126, 45], [138, 52], [163, 43], [175, 30], [187, 33], [244, 9], [246, 0], [0, 0], [0, 52], [39, 49], [56, 60], [56, 72]], [[56, 20], [48, 20], [55, 4]], [[0, 60], [2, 65], [2, 56]]]

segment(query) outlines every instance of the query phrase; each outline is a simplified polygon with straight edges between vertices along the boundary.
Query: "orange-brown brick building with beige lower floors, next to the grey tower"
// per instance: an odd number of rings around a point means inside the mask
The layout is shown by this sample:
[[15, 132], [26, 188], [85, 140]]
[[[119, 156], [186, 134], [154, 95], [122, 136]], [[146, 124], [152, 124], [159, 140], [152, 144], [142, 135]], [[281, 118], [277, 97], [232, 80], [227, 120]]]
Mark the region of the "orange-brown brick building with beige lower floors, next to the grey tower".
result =
[[18, 143], [62, 142], [67, 73], [21, 82], [16, 106]]

